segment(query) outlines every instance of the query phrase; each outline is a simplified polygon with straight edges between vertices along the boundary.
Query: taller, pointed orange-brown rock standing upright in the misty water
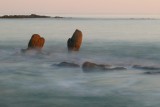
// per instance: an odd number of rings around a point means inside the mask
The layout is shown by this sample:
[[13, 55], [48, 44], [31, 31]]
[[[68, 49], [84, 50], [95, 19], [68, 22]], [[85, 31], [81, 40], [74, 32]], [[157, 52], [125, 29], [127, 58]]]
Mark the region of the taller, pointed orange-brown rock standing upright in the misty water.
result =
[[68, 39], [67, 46], [69, 51], [79, 51], [82, 43], [82, 32], [80, 30], [76, 30], [72, 36], [72, 38]]

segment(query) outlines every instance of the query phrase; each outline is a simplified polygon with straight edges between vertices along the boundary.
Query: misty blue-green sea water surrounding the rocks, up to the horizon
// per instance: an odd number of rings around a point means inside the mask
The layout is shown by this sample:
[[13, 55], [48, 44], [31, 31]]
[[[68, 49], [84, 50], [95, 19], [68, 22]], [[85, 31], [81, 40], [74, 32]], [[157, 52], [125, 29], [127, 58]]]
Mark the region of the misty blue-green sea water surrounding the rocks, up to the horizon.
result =
[[[83, 44], [68, 53], [76, 29]], [[35, 33], [46, 39], [43, 54], [21, 53]], [[0, 107], [159, 107], [160, 74], [132, 68], [160, 67], [159, 55], [160, 20], [1, 19]], [[84, 73], [53, 66], [63, 61], [127, 70]]]

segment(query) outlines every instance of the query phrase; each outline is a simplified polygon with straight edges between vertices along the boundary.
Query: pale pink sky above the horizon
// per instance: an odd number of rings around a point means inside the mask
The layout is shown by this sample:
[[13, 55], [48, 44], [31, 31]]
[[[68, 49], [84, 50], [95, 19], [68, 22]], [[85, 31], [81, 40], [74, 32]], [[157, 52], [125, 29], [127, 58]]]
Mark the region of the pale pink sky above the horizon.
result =
[[0, 14], [156, 14], [160, 0], [0, 0]]

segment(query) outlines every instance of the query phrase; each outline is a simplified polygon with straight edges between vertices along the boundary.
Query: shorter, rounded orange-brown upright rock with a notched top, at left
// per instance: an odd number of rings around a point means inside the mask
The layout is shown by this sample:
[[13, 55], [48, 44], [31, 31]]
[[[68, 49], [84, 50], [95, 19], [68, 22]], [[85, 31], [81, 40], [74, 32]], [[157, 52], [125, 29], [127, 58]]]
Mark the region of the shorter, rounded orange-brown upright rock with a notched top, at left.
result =
[[28, 49], [42, 49], [45, 43], [45, 39], [38, 34], [32, 35], [29, 43]]

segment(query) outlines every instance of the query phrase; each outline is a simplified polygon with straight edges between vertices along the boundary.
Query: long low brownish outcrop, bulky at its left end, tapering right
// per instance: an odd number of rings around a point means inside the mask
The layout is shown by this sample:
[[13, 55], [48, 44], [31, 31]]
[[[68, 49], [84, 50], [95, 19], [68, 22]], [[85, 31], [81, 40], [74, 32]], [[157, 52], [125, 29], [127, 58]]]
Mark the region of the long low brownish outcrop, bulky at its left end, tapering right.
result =
[[111, 67], [111, 65], [96, 64], [92, 62], [84, 62], [82, 69], [84, 72], [126, 70], [124, 67]]

